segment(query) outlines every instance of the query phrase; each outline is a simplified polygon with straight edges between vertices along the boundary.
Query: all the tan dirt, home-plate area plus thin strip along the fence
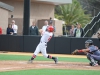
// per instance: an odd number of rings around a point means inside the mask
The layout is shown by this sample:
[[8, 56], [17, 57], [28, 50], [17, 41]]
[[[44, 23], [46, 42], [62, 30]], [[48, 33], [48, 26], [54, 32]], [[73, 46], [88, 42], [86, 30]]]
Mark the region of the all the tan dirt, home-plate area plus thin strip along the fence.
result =
[[[33, 53], [21, 53], [21, 52], [0, 52], [0, 54], [8, 55], [29, 55]], [[61, 55], [61, 54], [52, 54], [53, 56], [58, 57], [71, 57], [71, 58], [86, 58], [82, 55]], [[38, 56], [42, 56], [39, 54]], [[0, 61], [0, 72], [2, 71], [16, 71], [16, 70], [28, 70], [28, 69], [71, 69], [71, 70], [100, 70], [100, 66], [89, 66], [89, 63], [85, 62], [61, 62], [55, 64], [53, 61], [34, 61], [32, 64], [29, 64], [27, 61]]]

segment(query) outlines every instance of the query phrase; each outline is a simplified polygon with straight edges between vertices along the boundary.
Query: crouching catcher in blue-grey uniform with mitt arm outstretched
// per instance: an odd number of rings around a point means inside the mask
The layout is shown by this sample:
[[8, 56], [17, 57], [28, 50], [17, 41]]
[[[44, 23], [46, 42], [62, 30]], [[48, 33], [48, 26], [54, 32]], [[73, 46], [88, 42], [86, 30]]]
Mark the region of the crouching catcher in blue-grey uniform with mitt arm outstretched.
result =
[[86, 49], [78, 50], [76, 49], [75, 51], [72, 52], [72, 54], [77, 54], [84, 52], [87, 54], [87, 59], [90, 61], [91, 66], [98, 66], [100, 65], [100, 50], [98, 49], [97, 46], [93, 45], [92, 40], [87, 40], [85, 41], [85, 47]]

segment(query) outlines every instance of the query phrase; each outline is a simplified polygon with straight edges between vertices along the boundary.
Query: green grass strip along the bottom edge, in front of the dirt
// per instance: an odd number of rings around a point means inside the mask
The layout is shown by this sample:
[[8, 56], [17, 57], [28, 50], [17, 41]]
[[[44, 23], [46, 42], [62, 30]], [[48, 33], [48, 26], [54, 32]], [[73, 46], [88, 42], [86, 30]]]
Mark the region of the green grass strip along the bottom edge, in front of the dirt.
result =
[[0, 75], [99, 75], [100, 71], [34, 69], [22, 71], [0, 72]]

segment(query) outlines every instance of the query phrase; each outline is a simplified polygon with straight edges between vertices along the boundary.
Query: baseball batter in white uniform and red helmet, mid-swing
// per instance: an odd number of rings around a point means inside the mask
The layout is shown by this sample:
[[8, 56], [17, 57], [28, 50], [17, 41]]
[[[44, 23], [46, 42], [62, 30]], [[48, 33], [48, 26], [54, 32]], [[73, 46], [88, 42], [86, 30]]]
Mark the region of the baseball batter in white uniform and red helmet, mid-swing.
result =
[[29, 60], [30, 63], [32, 63], [34, 58], [36, 58], [36, 56], [38, 55], [38, 53], [41, 52], [44, 57], [53, 59], [55, 61], [55, 64], [57, 64], [58, 58], [57, 57], [52, 57], [52, 56], [48, 55], [47, 52], [46, 52], [47, 42], [49, 42], [50, 39], [52, 38], [53, 31], [54, 31], [53, 26], [48, 26], [47, 31], [45, 31], [45, 32], [42, 32], [42, 30], [40, 30], [40, 33], [42, 34], [42, 37], [40, 39], [40, 43], [36, 47], [36, 50], [35, 50], [33, 56]]

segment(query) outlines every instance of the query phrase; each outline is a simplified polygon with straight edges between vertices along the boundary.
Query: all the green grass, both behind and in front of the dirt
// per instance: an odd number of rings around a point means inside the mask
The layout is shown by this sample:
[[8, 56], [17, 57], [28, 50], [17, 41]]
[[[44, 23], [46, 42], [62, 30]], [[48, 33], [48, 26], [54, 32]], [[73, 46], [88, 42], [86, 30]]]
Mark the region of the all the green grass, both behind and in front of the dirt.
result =
[[[2, 60], [22, 60], [27, 61], [31, 56], [27, 55], [8, 55], [0, 54], [0, 61]], [[35, 61], [50, 61], [42, 56], [38, 56]], [[59, 61], [64, 62], [88, 62], [86, 58], [69, 58], [59, 57]], [[100, 71], [96, 70], [62, 70], [62, 69], [32, 69], [20, 71], [6, 71], [0, 72], [0, 75], [99, 75]]]

